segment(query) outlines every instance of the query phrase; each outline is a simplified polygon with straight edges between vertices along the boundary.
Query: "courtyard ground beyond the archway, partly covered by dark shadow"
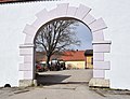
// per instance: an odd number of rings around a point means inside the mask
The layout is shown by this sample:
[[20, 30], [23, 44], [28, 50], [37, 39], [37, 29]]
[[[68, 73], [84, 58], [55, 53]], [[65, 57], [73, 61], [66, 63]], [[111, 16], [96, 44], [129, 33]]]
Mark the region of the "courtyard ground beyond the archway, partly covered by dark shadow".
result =
[[37, 72], [38, 85], [88, 84], [92, 79], [92, 69]]

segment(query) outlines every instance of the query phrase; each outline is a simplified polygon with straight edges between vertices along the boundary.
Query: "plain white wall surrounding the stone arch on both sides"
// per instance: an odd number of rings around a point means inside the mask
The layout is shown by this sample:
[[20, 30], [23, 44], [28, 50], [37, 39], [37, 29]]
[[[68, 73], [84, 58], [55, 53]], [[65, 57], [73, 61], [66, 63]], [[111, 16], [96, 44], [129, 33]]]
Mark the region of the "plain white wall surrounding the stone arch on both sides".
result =
[[82, 3], [92, 9], [90, 13], [95, 18], [103, 17], [108, 27], [104, 30], [105, 40], [112, 41], [110, 54], [105, 54], [105, 60], [110, 60], [110, 70], [105, 77], [110, 80], [113, 88], [130, 89], [129, 0], [61, 0], [0, 5], [0, 86], [6, 83], [17, 86], [23, 77], [18, 76], [18, 65], [24, 61], [18, 47], [24, 43], [22, 32], [26, 24], [31, 24], [35, 14], [44, 8], [51, 10], [63, 2], [76, 6]]

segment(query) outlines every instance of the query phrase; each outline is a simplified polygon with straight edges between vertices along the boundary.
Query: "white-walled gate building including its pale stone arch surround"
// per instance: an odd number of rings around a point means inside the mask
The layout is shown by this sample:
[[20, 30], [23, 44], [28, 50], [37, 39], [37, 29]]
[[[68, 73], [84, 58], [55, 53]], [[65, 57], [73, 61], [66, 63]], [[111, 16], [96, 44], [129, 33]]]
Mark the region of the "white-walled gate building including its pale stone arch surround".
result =
[[30, 85], [35, 79], [37, 31], [50, 20], [72, 17], [86, 24], [92, 32], [93, 77], [90, 86], [130, 89], [129, 9], [130, 0], [1, 3], [0, 86]]

